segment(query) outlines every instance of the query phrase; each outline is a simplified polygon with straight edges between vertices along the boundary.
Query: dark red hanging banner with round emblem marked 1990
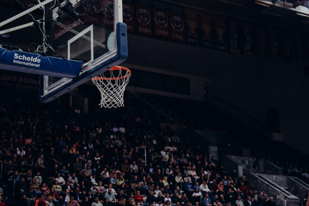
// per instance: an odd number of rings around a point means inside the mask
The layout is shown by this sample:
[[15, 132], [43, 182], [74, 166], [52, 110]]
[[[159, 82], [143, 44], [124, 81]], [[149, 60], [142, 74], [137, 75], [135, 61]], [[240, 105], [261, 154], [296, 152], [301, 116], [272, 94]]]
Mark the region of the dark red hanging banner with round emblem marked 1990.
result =
[[184, 7], [170, 4], [171, 39], [184, 42]]

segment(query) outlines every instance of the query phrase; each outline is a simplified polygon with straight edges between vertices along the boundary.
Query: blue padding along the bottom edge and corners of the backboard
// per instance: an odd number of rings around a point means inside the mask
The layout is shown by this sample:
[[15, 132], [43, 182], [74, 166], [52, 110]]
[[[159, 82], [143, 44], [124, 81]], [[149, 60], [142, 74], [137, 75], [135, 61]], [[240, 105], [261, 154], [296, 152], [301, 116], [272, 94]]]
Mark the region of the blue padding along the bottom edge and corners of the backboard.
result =
[[116, 41], [117, 53], [115, 57], [102, 62], [90, 70], [86, 70], [78, 78], [74, 78], [72, 81], [67, 82], [65, 85], [57, 88], [49, 94], [44, 95], [44, 77], [43, 75], [40, 75], [40, 101], [44, 103], [50, 102], [69, 90], [74, 89], [75, 87], [91, 80], [93, 77], [107, 71], [109, 68], [124, 62], [128, 57], [127, 25], [125, 23], [118, 22], [116, 24]]

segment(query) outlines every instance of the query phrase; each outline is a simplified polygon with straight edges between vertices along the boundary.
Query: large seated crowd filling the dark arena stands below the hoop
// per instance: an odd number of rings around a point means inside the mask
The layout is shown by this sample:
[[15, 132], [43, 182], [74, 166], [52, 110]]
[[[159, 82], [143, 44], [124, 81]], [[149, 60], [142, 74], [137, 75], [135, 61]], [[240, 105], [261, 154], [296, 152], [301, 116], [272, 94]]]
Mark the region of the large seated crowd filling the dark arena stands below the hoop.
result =
[[1, 181], [25, 206], [276, 205], [156, 118], [2, 103]]

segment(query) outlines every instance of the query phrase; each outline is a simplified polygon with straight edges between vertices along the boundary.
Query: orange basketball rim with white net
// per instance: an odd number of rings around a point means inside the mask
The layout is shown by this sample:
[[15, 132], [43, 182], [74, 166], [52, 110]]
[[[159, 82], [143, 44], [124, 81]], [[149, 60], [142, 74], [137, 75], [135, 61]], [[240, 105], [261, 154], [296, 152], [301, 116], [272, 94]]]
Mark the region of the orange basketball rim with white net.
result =
[[[101, 93], [101, 107], [123, 107], [123, 93], [125, 86], [131, 76], [130, 69], [122, 66], [114, 66], [108, 70], [109, 73], [100, 74], [92, 78], [92, 82], [98, 87]], [[118, 72], [117, 72], [118, 71]]]

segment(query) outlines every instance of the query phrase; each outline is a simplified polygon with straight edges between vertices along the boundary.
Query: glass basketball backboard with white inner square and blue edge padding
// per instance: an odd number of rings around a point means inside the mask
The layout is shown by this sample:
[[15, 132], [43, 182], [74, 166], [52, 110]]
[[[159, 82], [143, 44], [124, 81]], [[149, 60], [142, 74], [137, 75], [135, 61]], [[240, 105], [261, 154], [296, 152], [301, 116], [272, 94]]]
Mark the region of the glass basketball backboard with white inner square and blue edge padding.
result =
[[[40, 76], [40, 100], [49, 102], [76, 86], [125, 61], [126, 25], [122, 23], [121, 0], [71, 0], [77, 15], [60, 14], [53, 9], [55, 53], [84, 62], [76, 79]], [[62, 2], [64, 6], [66, 2]], [[58, 12], [57, 12], [58, 11]], [[60, 12], [61, 13], [61, 12]]]

